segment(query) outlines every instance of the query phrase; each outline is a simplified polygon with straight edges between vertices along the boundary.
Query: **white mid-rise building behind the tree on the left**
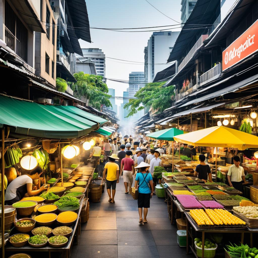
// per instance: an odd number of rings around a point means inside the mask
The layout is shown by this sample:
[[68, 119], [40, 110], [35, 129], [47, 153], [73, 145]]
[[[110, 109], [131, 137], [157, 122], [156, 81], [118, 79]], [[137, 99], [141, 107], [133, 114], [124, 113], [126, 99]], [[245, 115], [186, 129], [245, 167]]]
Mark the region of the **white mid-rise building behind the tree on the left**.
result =
[[[95, 63], [95, 68], [97, 75], [101, 75], [104, 78], [106, 77], [106, 63], [105, 63], [105, 54], [102, 52], [102, 49], [98, 48], [87, 48], [82, 49], [83, 57], [90, 59]], [[78, 57], [79, 59], [82, 57]], [[103, 81], [106, 82], [106, 79], [103, 78]]]

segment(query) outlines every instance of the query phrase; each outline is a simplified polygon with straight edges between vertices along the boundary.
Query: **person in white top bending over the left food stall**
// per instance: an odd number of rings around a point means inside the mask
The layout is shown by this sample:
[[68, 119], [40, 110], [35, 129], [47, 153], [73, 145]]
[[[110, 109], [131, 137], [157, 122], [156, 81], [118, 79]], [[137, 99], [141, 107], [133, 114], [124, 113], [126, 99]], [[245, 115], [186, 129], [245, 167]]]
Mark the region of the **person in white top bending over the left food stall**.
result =
[[15, 178], [7, 186], [5, 192], [5, 203], [7, 205], [12, 205], [17, 201], [20, 201], [26, 193], [28, 193], [29, 196], [33, 196], [45, 191], [46, 186], [42, 186], [38, 190], [32, 190], [32, 180], [39, 179], [42, 172], [42, 168], [37, 166], [31, 170], [28, 175], [21, 175], [18, 178]]

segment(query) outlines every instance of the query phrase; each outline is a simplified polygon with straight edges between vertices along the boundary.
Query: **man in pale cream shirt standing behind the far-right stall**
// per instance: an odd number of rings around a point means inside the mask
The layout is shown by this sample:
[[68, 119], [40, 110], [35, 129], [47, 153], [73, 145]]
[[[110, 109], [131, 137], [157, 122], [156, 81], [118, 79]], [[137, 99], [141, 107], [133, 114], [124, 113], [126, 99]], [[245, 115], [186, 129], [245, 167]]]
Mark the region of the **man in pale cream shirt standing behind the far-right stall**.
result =
[[231, 187], [243, 192], [243, 183], [245, 183], [244, 168], [240, 165], [240, 158], [238, 156], [233, 157], [234, 165], [229, 167], [228, 170], [228, 182]]

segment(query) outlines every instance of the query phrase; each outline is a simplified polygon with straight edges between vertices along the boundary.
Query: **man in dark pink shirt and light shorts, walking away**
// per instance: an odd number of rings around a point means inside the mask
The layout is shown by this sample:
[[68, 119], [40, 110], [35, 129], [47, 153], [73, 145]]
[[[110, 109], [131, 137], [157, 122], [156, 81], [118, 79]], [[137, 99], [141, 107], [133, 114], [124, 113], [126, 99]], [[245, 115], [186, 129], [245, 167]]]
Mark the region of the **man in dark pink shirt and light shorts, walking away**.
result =
[[123, 172], [123, 178], [124, 178], [124, 185], [125, 185], [125, 193], [128, 192], [128, 183], [129, 187], [132, 187], [133, 184], [133, 175], [135, 173], [134, 170], [134, 161], [130, 158], [130, 156], [133, 155], [131, 150], [127, 150], [125, 152], [125, 158], [121, 161], [121, 169], [120, 169], [120, 175], [122, 175]]

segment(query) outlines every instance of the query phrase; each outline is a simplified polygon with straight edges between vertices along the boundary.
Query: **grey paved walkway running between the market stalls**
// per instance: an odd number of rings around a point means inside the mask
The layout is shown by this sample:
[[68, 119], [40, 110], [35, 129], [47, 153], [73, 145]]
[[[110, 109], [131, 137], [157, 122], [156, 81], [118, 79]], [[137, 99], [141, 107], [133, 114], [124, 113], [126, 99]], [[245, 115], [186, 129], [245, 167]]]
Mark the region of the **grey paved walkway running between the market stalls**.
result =
[[176, 225], [168, 219], [163, 198], [153, 196], [148, 223], [138, 223], [137, 201], [124, 193], [123, 179], [117, 184], [115, 203], [108, 203], [107, 190], [101, 202], [90, 203], [90, 218], [82, 224], [78, 246], [73, 246], [71, 258], [168, 258], [188, 257], [186, 248], [179, 247]]

